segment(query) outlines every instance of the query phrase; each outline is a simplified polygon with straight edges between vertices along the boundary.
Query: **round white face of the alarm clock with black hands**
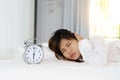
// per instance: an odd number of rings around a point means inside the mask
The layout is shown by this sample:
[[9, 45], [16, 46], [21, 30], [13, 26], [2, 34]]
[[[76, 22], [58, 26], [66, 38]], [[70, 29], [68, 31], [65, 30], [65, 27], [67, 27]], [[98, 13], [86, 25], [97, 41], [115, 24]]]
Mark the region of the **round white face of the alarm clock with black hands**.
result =
[[27, 63], [40, 63], [43, 59], [43, 50], [37, 45], [29, 46], [24, 54]]

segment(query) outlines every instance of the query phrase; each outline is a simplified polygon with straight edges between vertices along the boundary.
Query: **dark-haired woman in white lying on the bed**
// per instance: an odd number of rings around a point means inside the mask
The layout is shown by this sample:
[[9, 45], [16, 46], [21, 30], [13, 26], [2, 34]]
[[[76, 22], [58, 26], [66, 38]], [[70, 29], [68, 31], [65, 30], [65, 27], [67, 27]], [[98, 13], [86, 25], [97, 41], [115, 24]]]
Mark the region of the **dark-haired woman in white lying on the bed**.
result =
[[[67, 29], [57, 30], [49, 39], [49, 48], [55, 52], [57, 59], [89, 64], [106, 64], [110, 60], [120, 61], [120, 41], [114, 44], [114, 46], [113, 43], [106, 44], [101, 37], [85, 39]], [[116, 49], [116, 52], [112, 49]]]

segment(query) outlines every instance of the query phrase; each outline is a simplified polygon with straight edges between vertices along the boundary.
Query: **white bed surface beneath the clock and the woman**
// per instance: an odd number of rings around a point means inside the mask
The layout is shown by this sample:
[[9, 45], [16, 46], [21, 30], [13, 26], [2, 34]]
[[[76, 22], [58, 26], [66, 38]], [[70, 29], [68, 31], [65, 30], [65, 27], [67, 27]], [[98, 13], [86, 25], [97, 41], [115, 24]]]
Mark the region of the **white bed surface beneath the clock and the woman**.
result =
[[12, 59], [0, 60], [1, 80], [120, 80], [120, 62], [89, 65], [59, 61], [47, 47], [44, 53], [40, 64], [26, 64], [22, 51]]

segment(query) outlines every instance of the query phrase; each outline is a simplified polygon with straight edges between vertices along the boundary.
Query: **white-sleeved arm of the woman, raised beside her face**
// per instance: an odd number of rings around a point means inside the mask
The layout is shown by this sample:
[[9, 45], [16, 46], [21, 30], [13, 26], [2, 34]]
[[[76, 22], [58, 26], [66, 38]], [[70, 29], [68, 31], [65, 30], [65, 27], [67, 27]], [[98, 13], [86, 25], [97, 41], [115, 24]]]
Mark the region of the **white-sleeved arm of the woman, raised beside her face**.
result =
[[89, 64], [106, 64], [106, 47], [101, 41], [90, 42], [88, 39], [83, 39], [79, 42], [79, 49], [83, 56], [83, 60]]

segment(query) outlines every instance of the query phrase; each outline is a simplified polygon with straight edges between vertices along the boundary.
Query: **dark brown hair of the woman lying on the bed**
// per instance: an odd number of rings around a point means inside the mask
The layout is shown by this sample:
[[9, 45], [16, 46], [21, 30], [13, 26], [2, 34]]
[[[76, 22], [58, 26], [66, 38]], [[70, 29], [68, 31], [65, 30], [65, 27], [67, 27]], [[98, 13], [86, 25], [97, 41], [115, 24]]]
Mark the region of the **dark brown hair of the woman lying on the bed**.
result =
[[60, 45], [60, 41], [62, 39], [75, 39], [77, 40], [77, 38], [75, 37], [74, 33], [72, 33], [71, 31], [68, 31], [67, 29], [59, 29], [57, 31], [55, 31], [52, 35], [52, 37], [49, 39], [49, 48], [55, 52], [55, 56], [57, 59], [64, 59], [66, 60], [66, 58], [63, 56], [63, 54], [61, 53], [60, 49], [59, 49], [59, 45]]

